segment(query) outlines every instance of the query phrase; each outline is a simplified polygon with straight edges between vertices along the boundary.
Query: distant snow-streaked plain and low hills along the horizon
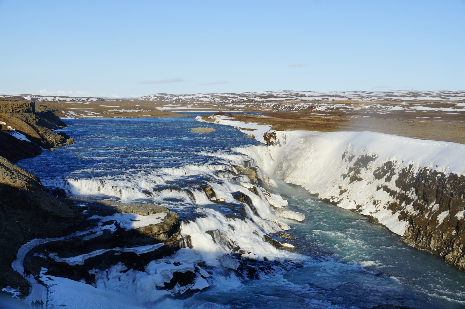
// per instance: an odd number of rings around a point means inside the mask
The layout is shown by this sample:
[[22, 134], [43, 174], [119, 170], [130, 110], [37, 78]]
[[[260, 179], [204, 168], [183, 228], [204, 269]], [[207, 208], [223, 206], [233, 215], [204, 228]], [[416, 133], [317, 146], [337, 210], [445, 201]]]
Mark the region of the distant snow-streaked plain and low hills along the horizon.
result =
[[[463, 112], [461, 102], [447, 107], [440, 103], [452, 103], [465, 99], [464, 91], [379, 91], [379, 92], [312, 92], [312, 91], [268, 91], [243, 93], [196, 93], [175, 95], [155, 93], [142, 97], [143, 100], [163, 101], [176, 104], [176, 109], [186, 110], [187, 105], [224, 105], [229, 107], [252, 107], [257, 111], [377, 111], [389, 113], [405, 110]], [[428, 102], [429, 101], [429, 102]], [[428, 106], [433, 103], [434, 106]], [[186, 105], [187, 104], [187, 105]], [[425, 106], [424, 106], [425, 105]], [[161, 110], [167, 105], [157, 107]], [[200, 106], [200, 105], [199, 105]]]

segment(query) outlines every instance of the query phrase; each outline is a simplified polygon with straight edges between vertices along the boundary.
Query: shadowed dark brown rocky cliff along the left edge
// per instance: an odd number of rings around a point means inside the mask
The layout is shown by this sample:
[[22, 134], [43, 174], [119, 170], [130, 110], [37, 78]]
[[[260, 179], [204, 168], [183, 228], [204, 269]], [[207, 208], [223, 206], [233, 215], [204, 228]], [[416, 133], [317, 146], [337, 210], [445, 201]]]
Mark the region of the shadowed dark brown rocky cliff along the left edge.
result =
[[36, 235], [62, 235], [82, 218], [72, 201], [51, 196], [38, 178], [13, 163], [73, 139], [53, 131], [66, 124], [52, 109], [29, 101], [0, 102], [0, 125], [0, 285], [19, 286], [27, 294], [26, 281], [11, 269], [20, 246]]

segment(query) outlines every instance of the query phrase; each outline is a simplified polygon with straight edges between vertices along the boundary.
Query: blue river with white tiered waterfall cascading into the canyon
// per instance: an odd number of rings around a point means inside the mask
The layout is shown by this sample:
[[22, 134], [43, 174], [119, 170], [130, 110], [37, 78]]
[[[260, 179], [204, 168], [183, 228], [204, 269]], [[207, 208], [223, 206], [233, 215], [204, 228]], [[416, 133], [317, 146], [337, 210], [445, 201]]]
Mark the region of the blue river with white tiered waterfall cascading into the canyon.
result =
[[[464, 308], [465, 273], [440, 258], [408, 247], [398, 235], [367, 217], [327, 204], [283, 182], [270, 192], [282, 194], [304, 222], [282, 217], [291, 226], [295, 250], [278, 250], [263, 240], [280, 232], [264, 218], [276, 218], [260, 196], [232, 177], [266, 146], [230, 126], [208, 125], [209, 134], [190, 132], [193, 118], [76, 119], [64, 131], [77, 143], [44, 151], [18, 165], [48, 187], [81, 198], [155, 203], [179, 213], [181, 232], [208, 266], [210, 287], [184, 299], [162, 297], [152, 308]], [[204, 125], [204, 124], [202, 124]], [[253, 146], [253, 147], [251, 147]], [[48, 165], [47, 165], [48, 164]], [[271, 176], [271, 175], [270, 175]], [[226, 203], [210, 201], [211, 186]], [[252, 198], [257, 214], [231, 193]], [[229, 252], [206, 230], [220, 230], [234, 245], [259, 256], [248, 274], [223, 268], [218, 257]], [[280, 240], [282, 242], [285, 239]], [[269, 261], [263, 261], [264, 257]], [[100, 287], [99, 287], [100, 288]], [[389, 308], [389, 307], [383, 307]], [[395, 308], [395, 307], [392, 307]]]

